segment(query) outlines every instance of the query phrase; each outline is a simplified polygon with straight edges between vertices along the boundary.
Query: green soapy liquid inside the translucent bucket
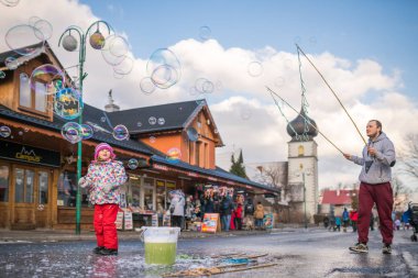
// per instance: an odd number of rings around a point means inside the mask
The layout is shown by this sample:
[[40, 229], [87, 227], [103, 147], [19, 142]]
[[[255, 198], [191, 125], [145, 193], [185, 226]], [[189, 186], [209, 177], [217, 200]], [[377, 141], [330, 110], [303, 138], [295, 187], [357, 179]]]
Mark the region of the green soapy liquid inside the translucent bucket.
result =
[[176, 260], [177, 243], [147, 243], [145, 242], [145, 263], [173, 265]]

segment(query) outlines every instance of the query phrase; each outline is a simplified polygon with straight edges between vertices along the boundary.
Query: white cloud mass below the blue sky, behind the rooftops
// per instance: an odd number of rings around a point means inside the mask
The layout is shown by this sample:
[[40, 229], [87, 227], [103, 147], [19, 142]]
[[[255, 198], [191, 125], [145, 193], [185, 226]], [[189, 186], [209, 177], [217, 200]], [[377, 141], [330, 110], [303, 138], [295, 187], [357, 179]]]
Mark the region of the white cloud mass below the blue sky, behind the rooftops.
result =
[[[53, 12], [51, 7], [54, 8]], [[114, 12], [118, 10], [117, 7], [108, 9]], [[118, 12], [123, 13], [121, 10]], [[69, 25], [86, 29], [99, 20], [89, 7], [69, 0], [22, 1], [15, 8], [0, 5], [0, 37], [4, 37], [10, 27], [26, 23], [31, 16], [36, 15], [50, 21], [54, 26], [50, 44], [65, 67], [77, 64], [78, 53], [66, 53], [57, 47], [59, 35]], [[112, 67], [106, 64], [100, 52], [87, 46], [85, 69], [89, 75], [85, 80], [85, 101], [102, 108], [110, 89], [113, 89], [113, 97], [122, 109], [207, 98], [226, 144], [226, 147], [218, 151], [220, 166], [228, 169], [230, 154], [238, 148], [243, 148], [248, 163], [287, 159], [287, 142], [290, 140], [286, 132], [287, 123], [265, 86], [277, 91], [297, 110], [300, 109], [300, 80], [296, 54], [268, 45], [255, 51], [224, 48], [215, 40], [184, 40], [169, 49], [182, 63], [182, 79], [167, 90], [158, 89], [145, 96], [140, 89], [140, 81], [147, 75], [146, 57], [134, 57], [132, 73], [122, 79], [116, 79]], [[8, 51], [3, 40], [0, 40], [0, 51]], [[360, 154], [363, 142], [353, 124], [319, 75], [305, 57], [300, 58], [310, 104], [309, 116], [343, 152]], [[399, 69], [383, 68], [378, 62], [366, 57], [349, 60], [336, 57], [331, 53], [309, 55], [309, 58], [341, 98], [363, 136], [369, 119], [382, 120], [384, 131], [398, 146], [406, 133], [417, 131], [418, 122], [414, 121], [418, 116], [417, 103], [413, 103], [397, 91], [403, 87]], [[263, 74], [252, 77], [248, 73], [248, 66], [255, 60], [263, 66]], [[76, 74], [75, 70], [70, 73]], [[190, 94], [190, 87], [201, 77], [216, 85], [215, 91], [199, 96]], [[286, 107], [284, 112], [290, 121], [296, 118], [296, 113]], [[340, 181], [355, 182], [360, 168], [342, 158], [342, 155], [320, 135], [316, 141], [319, 145], [320, 186], [333, 186]]]

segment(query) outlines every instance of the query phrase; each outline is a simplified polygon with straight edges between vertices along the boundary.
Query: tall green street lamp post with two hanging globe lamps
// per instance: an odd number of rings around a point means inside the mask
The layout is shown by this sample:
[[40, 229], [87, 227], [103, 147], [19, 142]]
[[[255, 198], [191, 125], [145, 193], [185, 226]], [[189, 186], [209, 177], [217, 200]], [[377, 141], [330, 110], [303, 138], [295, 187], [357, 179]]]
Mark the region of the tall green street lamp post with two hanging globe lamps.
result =
[[[100, 30], [99, 30], [100, 23], [106, 25], [108, 33], [110, 34], [111, 26], [106, 21], [96, 21], [87, 29], [86, 32], [82, 32], [82, 30], [79, 26], [75, 26], [75, 25], [67, 27], [64, 31], [64, 33], [61, 35], [59, 41], [58, 41], [58, 47], [63, 43], [63, 47], [68, 52], [74, 52], [75, 49], [77, 49], [77, 44], [78, 44], [78, 48], [79, 48], [79, 55], [78, 55], [78, 67], [79, 67], [78, 90], [81, 93], [81, 96], [82, 96], [82, 80], [87, 77], [87, 73], [84, 71], [84, 64], [86, 62], [86, 38], [87, 38], [90, 30], [94, 26], [97, 26], [97, 31], [91, 36], [89, 36], [90, 45], [95, 49], [101, 49], [103, 47], [105, 37], [100, 33]], [[72, 32], [74, 32], [78, 35], [79, 43], [72, 35]], [[82, 97], [80, 99], [82, 99]], [[82, 124], [82, 111], [78, 118], [78, 123], [80, 125]], [[77, 158], [77, 180], [79, 180], [81, 178], [81, 157], [82, 157], [81, 140], [78, 141], [78, 143], [77, 143], [77, 156], [78, 156], [78, 158]], [[80, 232], [81, 232], [80, 219], [81, 219], [81, 190], [80, 190], [80, 186], [77, 182], [76, 234], [80, 234]]]

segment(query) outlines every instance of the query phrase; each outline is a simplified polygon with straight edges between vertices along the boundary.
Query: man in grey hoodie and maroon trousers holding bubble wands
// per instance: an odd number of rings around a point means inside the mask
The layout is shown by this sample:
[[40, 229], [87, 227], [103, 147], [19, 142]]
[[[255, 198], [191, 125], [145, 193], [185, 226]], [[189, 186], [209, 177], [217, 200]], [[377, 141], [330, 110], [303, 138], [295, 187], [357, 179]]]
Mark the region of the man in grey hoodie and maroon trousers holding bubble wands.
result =
[[377, 120], [369, 121], [366, 125], [369, 143], [363, 148], [362, 157], [344, 154], [344, 157], [362, 166], [360, 173], [359, 190], [359, 238], [358, 243], [350, 247], [356, 253], [367, 253], [370, 215], [373, 204], [376, 203], [381, 234], [383, 237], [384, 254], [392, 253], [394, 237], [392, 208], [394, 203], [391, 186], [392, 169], [395, 165], [395, 147], [386, 134], [382, 131], [382, 123]]

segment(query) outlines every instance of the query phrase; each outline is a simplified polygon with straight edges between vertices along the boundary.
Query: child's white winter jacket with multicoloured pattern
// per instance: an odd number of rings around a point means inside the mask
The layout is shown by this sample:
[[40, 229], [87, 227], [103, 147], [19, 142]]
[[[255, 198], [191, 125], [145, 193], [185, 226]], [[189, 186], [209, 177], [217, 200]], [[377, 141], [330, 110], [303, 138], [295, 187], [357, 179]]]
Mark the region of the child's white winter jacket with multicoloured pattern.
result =
[[87, 175], [80, 178], [80, 187], [89, 189], [89, 201], [92, 204], [120, 202], [120, 186], [128, 177], [123, 164], [117, 160], [95, 162], [88, 167]]

